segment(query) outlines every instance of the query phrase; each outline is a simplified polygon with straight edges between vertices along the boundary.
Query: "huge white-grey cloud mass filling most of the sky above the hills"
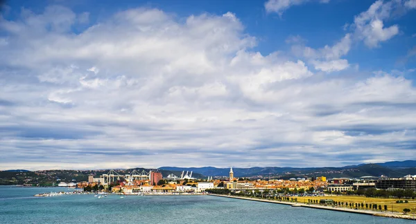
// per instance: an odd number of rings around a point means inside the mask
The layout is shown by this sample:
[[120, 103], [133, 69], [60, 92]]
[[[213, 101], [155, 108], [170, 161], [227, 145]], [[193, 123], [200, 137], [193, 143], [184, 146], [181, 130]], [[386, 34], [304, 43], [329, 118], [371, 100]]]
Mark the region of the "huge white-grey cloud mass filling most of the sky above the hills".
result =
[[79, 34], [77, 17], [1, 22], [0, 168], [339, 165], [380, 160], [379, 142], [388, 160], [416, 156], [410, 80], [311, 71], [347, 68], [350, 35], [288, 59], [254, 51], [230, 12], [137, 8]]

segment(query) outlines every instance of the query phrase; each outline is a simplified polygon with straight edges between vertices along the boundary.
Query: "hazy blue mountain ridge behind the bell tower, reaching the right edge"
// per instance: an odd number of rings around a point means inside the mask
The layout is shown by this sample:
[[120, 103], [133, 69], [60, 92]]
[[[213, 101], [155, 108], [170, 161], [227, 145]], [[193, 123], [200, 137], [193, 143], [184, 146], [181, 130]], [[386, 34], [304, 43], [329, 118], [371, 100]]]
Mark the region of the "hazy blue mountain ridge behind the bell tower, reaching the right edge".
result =
[[[229, 168], [216, 167], [159, 167], [169, 171], [193, 171], [204, 176], [228, 176]], [[375, 164], [361, 164], [347, 167], [250, 167], [232, 168], [234, 176], [239, 177], [311, 177], [327, 176], [329, 178], [358, 178], [361, 176], [401, 177], [416, 174], [416, 160], [393, 161]]]

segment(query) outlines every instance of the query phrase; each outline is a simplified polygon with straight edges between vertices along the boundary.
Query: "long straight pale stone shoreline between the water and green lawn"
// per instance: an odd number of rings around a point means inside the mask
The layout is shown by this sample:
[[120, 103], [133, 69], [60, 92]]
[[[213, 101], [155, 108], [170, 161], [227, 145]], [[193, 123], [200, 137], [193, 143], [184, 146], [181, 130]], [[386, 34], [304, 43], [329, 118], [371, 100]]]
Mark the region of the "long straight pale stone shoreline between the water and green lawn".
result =
[[325, 205], [308, 205], [304, 203], [292, 203], [286, 201], [279, 201], [279, 200], [266, 200], [266, 199], [259, 199], [259, 198], [246, 198], [241, 196], [228, 196], [228, 195], [221, 195], [221, 194], [207, 194], [210, 196], [217, 196], [217, 197], [224, 197], [224, 198], [235, 198], [241, 200], [254, 200], [263, 203], [275, 203], [280, 205], [291, 205], [292, 207], [309, 207], [314, 209], [327, 209], [336, 212], [349, 212], [349, 213], [356, 213], [356, 214], [366, 214], [372, 216], [381, 216], [385, 218], [402, 218], [402, 219], [410, 219], [413, 220], [415, 217], [411, 215], [400, 214], [397, 212], [376, 212], [376, 211], [369, 211], [369, 210], [361, 210], [361, 209], [349, 209], [345, 207], [333, 207], [333, 206], [325, 206]]

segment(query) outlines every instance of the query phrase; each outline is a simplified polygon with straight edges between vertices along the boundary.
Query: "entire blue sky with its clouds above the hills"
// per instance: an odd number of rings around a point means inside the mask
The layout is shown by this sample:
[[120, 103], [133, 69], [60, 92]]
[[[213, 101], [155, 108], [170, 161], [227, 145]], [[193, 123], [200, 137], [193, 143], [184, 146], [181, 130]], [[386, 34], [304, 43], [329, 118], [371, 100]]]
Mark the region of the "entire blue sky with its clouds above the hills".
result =
[[415, 21], [416, 0], [4, 1], [0, 169], [415, 159]]

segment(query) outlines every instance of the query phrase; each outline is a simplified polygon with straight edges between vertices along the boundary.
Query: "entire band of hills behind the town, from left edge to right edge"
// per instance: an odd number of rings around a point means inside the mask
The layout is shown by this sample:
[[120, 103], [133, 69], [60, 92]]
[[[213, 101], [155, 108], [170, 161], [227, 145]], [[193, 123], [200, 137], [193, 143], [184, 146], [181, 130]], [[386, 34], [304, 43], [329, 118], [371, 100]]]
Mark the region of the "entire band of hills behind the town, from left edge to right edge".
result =
[[[137, 171], [150, 169], [137, 167]], [[393, 161], [375, 164], [361, 164], [347, 167], [233, 167], [234, 176], [247, 178], [297, 178], [297, 177], [317, 177], [326, 176], [327, 178], [359, 178], [361, 176], [388, 176], [402, 177], [407, 174], [416, 174], [416, 160]], [[26, 169], [12, 169], [0, 171], [0, 185], [40, 185], [51, 186], [58, 181], [86, 181], [88, 175], [100, 176], [107, 174], [110, 169], [101, 170], [47, 170], [47, 171], [28, 171]], [[133, 169], [116, 169], [119, 174], [130, 174]], [[193, 171], [193, 178], [204, 178], [207, 176], [225, 177], [229, 175], [229, 168], [216, 167], [159, 167], [162, 176], [169, 174], [180, 176], [182, 171]]]

